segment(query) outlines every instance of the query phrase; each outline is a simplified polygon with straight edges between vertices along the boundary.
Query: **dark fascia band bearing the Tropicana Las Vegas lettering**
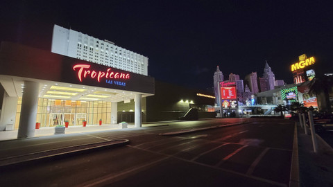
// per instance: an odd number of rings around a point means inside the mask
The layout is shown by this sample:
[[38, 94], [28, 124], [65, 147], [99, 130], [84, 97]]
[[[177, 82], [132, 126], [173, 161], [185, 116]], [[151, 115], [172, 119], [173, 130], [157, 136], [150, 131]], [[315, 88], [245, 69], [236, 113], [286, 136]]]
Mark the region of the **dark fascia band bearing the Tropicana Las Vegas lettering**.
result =
[[[19, 55], [17, 55], [19, 54]], [[37, 48], [1, 42], [0, 75], [154, 94], [154, 78]], [[33, 68], [32, 68], [33, 67]]]

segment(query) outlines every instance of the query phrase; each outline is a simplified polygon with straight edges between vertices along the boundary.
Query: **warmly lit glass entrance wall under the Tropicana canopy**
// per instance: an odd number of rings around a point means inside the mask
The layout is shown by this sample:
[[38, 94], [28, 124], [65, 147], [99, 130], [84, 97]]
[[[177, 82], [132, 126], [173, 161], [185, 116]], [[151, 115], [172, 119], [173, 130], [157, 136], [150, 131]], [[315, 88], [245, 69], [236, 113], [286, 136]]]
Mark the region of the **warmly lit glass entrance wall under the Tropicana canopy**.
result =
[[[17, 102], [15, 129], [19, 127], [22, 98]], [[38, 99], [36, 122], [40, 127], [54, 127], [56, 125], [88, 125], [111, 124], [111, 102], [82, 101], [82, 100], [55, 100], [47, 98]]]

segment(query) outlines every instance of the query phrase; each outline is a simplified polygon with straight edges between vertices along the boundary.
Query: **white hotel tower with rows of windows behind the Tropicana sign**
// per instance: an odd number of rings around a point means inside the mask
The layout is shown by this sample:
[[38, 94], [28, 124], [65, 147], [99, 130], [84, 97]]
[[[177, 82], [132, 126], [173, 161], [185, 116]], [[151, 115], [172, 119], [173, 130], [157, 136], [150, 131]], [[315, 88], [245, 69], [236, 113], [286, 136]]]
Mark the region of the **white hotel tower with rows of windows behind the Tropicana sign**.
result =
[[104, 66], [148, 75], [148, 57], [75, 30], [54, 25], [51, 51]]

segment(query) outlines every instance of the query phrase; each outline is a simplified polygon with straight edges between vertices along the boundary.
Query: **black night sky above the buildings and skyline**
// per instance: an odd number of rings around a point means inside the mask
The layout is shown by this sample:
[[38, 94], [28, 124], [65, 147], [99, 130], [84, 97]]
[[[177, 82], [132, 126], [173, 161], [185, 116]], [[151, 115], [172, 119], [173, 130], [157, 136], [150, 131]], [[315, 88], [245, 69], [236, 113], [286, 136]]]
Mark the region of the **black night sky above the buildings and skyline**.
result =
[[53, 24], [108, 39], [149, 58], [148, 75], [186, 87], [213, 86], [265, 60], [275, 79], [306, 53], [333, 73], [330, 1], [1, 1], [0, 41], [51, 51]]

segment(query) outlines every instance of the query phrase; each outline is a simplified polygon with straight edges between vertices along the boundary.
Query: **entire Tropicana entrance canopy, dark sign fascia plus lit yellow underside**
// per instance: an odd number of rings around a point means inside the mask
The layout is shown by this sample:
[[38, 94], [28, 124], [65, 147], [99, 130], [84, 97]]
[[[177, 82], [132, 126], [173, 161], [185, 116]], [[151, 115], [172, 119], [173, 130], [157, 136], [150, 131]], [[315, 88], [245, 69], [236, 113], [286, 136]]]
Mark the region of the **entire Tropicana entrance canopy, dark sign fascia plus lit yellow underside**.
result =
[[8, 42], [0, 48], [0, 82], [22, 96], [24, 81], [40, 84], [40, 98], [120, 102], [154, 94], [154, 78]]

